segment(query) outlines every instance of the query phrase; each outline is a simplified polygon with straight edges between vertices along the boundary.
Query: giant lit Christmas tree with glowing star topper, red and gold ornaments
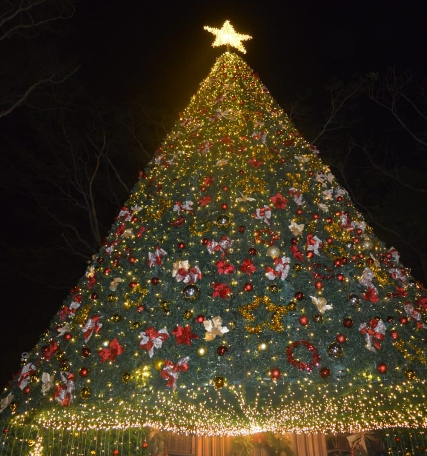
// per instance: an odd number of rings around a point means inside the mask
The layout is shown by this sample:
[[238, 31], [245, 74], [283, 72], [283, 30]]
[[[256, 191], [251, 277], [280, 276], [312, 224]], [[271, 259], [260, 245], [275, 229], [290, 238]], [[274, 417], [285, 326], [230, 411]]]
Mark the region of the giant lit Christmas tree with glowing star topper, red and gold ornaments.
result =
[[0, 455], [137, 454], [147, 428], [423, 451], [427, 296], [319, 155], [222, 54], [0, 396]]

